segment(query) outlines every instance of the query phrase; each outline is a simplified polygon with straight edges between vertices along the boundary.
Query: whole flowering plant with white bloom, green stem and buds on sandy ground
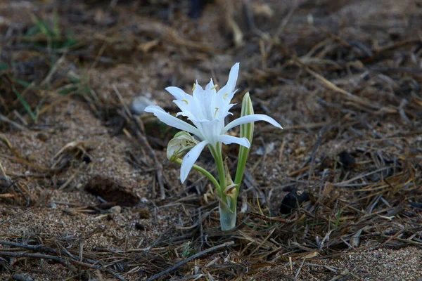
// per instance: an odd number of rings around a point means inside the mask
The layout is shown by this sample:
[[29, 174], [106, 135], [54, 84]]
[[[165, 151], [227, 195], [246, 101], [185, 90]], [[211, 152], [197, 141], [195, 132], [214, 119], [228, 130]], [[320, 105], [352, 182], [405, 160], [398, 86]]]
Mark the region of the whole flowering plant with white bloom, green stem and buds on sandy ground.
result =
[[[239, 63], [236, 63], [231, 67], [227, 84], [219, 91], [217, 91], [217, 85], [214, 85], [212, 79], [205, 86], [205, 89], [196, 81], [196, 84], [193, 84], [192, 95], [177, 87], [167, 87], [166, 90], [176, 98], [174, 103], [181, 110], [176, 117], [157, 105], [151, 105], [145, 109], [146, 112], [153, 113], [161, 122], [181, 130], [168, 143], [167, 157], [172, 162], [181, 164], [180, 180], [182, 183], [193, 168], [210, 179], [215, 185], [222, 230], [231, 230], [236, 226], [236, 203], [252, 143], [254, 122], [265, 121], [283, 129], [271, 117], [254, 114], [249, 93], [246, 93], [243, 97], [241, 117], [225, 125], [224, 119], [226, 116], [232, 115], [229, 110], [234, 106], [231, 99], [236, 93], [234, 88], [238, 72]], [[187, 117], [191, 124], [177, 118], [179, 115]], [[240, 138], [227, 134], [230, 129], [239, 125], [241, 126]], [[231, 179], [222, 155], [222, 145], [231, 143], [241, 145], [234, 181]], [[205, 147], [210, 149], [212, 157], [215, 159], [219, 181], [210, 172], [195, 164], [200, 152]]]

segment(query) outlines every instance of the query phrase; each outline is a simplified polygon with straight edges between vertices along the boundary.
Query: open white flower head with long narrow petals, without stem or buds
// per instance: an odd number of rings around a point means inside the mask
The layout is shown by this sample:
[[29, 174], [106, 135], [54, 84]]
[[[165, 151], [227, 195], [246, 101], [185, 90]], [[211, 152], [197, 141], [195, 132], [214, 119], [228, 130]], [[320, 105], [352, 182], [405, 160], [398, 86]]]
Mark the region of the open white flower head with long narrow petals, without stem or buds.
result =
[[189, 171], [191, 171], [193, 164], [195, 164], [200, 152], [202, 152], [206, 145], [210, 145], [214, 150], [217, 149], [217, 145], [220, 143], [226, 145], [237, 143], [249, 148], [250, 143], [247, 138], [237, 138], [226, 134], [227, 131], [235, 126], [256, 121], [266, 121], [283, 129], [276, 120], [267, 115], [247, 115], [235, 119], [224, 126], [224, 118], [231, 114], [229, 110], [234, 105], [230, 102], [231, 98], [233, 98], [236, 93], [234, 87], [236, 86], [238, 72], [239, 63], [236, 63], [231, 67], [229, 81], [227, 81], [226, 86], [219, 89], [218, 92], [215, 90], [217, 86], [214, 85], [212, 79], [210, 83], [205, 86], [205, 89], [196, 81], [196, 84], [193, 85], [193, 95], [189, 95], [177, 87], [166, 88], [166, 90], [176, 98], [174, 103], [176, 103], [181, 110], [176, 116], [182, 115], [187, 117], [194, 126], [177, 117], [173, 117], [157, 105], [146, 107], [145, 111], [153, 113], [161, 122], [192, 133], [200, 138], [200, 143], [193, 147], [183, 159], [180, 169], [180, 180], [182, 183], [186, 180]]

